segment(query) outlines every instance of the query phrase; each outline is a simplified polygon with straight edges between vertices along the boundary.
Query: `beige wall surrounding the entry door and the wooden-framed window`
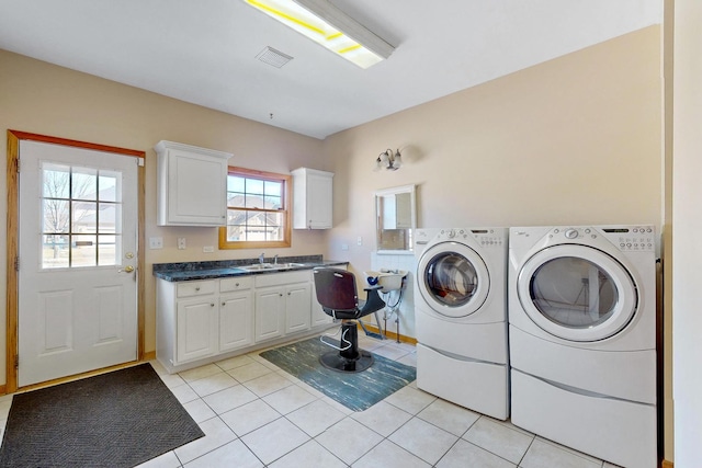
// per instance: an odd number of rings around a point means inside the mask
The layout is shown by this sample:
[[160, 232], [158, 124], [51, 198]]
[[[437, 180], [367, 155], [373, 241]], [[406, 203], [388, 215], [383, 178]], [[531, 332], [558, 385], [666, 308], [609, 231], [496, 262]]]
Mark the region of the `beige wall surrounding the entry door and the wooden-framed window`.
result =
[[[267, 111], [268, 112], [268, 111]], [[261, 251], [203, 253], [217, 246], [216, 228], [156, 226], [156, 153], [161, 139], [231, 152], [231, 165], [287, 173], [298, 167], [330, 169], [321, 141], [188, 104], [136, 88], [0, 50], [0, 144], [7, 129], [49, 135], [146, 151], [146, 238], [163, 238], [162, 250], [145, 249], [146, 351], [156, 349], [156, 283], [151, 265], [159, 262], [254, 258]], [[7, 192], [7, 158], [0, 158], [0, 192]], [[0, 199], [7, 209], [4, 196]], [[0, 220], [0, 274], [5, 277], [5, 219]], [[325, 232], [293, 231], [291, 249], [269, 249], [267, 255], [326, 254]], [[188, 249], [178, 250], [177, 239]], [[0, 297], [5, 297], [0, 282]], [[3, 301], [4, 306], [4, 301]], [[4, 310], [4, 307], [3, 309]], [[4, 315], [3, 315], [4, 316]], [[0, 383], [4, 383], [5, 328], [0, 326]]]

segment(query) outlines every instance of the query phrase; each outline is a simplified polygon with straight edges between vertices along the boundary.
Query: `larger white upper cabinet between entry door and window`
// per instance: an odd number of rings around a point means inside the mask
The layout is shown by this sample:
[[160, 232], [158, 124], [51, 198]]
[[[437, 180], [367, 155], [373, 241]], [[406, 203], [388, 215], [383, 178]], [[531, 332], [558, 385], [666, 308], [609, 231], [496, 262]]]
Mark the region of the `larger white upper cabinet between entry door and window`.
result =
[[224, 226], [227, 163], [233, 155], [173, 141], [159, 141], [159, 226]]

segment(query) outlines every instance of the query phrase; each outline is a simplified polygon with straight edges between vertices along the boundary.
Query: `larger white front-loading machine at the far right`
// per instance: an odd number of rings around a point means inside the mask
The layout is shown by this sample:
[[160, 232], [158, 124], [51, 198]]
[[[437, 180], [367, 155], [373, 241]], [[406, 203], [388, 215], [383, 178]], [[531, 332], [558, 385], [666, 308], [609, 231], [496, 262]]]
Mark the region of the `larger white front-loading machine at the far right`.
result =
[[654, 228], [511, 228], [509, 244], [512, 423], [656, 467]]

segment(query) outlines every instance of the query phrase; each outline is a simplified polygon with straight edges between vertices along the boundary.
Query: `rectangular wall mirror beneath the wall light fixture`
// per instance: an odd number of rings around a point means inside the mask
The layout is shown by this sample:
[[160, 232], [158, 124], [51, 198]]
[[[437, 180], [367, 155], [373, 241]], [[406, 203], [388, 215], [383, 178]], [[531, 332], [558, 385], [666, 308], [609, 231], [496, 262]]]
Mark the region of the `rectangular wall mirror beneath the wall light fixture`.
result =
[[412, 229], [417, 227], [415, 185], [375, 192], [377, 253], [412, 251]]

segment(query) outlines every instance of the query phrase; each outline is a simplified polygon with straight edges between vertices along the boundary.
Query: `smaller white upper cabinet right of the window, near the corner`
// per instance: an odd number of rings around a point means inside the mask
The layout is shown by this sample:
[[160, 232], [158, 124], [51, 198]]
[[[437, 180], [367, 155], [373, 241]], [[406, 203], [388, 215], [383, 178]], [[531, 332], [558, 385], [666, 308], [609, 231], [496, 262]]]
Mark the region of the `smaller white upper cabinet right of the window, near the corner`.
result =
[[330, 229], [333, 173], [299, 168], [293, 174], [293, 228]]

